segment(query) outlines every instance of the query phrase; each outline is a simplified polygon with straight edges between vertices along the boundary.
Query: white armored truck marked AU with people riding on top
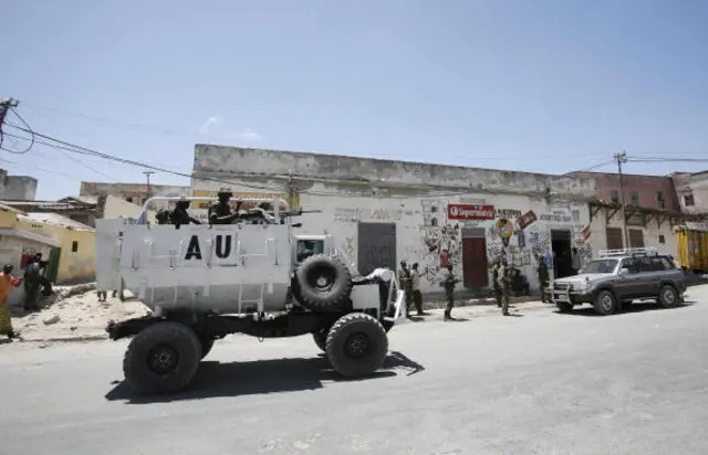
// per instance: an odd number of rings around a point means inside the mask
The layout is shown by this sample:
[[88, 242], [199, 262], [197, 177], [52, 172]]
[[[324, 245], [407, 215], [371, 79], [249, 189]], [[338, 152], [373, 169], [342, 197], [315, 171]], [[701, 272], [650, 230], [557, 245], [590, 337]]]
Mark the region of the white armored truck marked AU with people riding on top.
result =
[[[111, 321], [111, 339], [134, 337], [123, 371], [138, 393], [176, 392], [195, 375], [215, 340], [312, 334], [333, 369], [362, 377], [382, 367], [388, 330], [405, 320], [396, 274], [356, 276], [331, 235], [293, 235], [282, 200], [232, 224], [152, 224], [153, 198], [137, 222], [96, 222], [96, 286], [124, 286], [152, 314]], [[260, 213], [260, 215], [259, 215]]]

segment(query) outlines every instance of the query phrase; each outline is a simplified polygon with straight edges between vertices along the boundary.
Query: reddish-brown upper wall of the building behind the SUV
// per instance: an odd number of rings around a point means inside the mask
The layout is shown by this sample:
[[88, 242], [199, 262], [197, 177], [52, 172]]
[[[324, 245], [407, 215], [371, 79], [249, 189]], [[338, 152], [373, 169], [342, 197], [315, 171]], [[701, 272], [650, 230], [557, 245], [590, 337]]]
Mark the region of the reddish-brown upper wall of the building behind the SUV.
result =
[[[611, 201], [613, 190], [620, 192], [620, 176], [616, 173], [601, 172], [574, 172], [574, 176], [594, 178], [596, 184], [595, 195], [600, 200]], [[676, 189], [674, 180], [670, 177], [663, 176], [623, 176], [624, 202], [625, 204], [634, 204], [650, 209], [664, 209], [679, 211], [680, 205], [676, 198]], [[658, 193], [664, 197], [664, 207], [660, 207]], [[633, 200], [633, 194], [638, 198]]]

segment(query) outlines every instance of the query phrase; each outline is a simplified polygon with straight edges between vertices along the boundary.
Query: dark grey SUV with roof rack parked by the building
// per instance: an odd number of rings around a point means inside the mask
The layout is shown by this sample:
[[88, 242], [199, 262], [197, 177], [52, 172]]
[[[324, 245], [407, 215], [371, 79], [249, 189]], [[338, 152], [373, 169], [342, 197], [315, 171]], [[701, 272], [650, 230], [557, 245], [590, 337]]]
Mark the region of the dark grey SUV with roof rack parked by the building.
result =
[[598, 314], [612, 315], [638, 299], [673, 307], [683, 300], [686, 283], [684, 272], [656, 248], [607, 250], [579, 275], [553, 281], [551, 290], [561, 311], [591, 304]]

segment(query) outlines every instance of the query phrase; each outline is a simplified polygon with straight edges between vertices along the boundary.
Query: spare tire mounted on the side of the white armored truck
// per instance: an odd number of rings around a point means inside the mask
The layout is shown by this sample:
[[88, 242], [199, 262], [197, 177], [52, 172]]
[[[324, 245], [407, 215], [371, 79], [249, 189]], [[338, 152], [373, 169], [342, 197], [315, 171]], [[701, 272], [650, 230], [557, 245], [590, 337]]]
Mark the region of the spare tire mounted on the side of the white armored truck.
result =
[[314, 311], [342, 308], [352, 293], [352, 274], [336, 257], [308, 257], [295, 271], [296, 297]]

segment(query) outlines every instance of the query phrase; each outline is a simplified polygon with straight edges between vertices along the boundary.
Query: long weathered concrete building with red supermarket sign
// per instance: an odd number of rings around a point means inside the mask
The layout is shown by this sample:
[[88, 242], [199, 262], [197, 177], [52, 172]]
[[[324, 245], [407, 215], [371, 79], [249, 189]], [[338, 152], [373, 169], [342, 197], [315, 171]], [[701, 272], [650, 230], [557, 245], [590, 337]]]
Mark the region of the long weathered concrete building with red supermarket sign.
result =
[[533, 253], [575, 246], [591, 256], [587, 240], [604, 234], [590, 225], [593, 178], [197, 145], [195, 193], [225, 181], [320, 210], [296, 233], [334, 235], [363, 274], [418, 262], [425, 293], [441, 290], [447, 264], [466, 288], [489, 286], [489, 261], [502, 251], [538, 289]]

